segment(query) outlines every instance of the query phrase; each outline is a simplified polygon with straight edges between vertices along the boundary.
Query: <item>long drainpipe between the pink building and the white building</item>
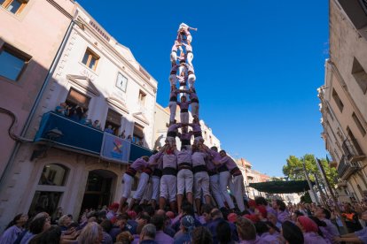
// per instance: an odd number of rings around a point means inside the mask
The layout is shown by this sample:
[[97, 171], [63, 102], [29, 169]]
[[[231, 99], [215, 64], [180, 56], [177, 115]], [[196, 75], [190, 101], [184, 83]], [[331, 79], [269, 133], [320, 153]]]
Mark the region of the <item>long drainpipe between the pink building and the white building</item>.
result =
[[[53, 75], [53, 72], [55, 72], [57, 65], [59, 64], [59, 59], [61, 57], [61, 54], [63, 53], [63, 51], [65, 50], [66, 47], [66, 42], [68, 41], [71, 31], [73, 30], [74, 24], [75, 24], [75, 19], [76, 16], [78, 15], [78, 11], [75, 10], [73, 19], [71, 20], [69, 27], [67, 27], [66, 30], [66, 34], [64, 35], [64, 38], [62, 39], [61, 44], [59, 45], [59, 50], [56, 53], [56, 56], [53, 58], [49, 72], [47, 73], [46, 78], [43, 81], [43, 86], [40, 89], [40, 91], [38, 92], [38, 95], [35, 97], [35, 103], [33, 103], [32, 109], [29, 112], [29, 115], [27, 117], [26, 120], [26, 124], [25, 126], [23, 126], [23, 129], [21, 130], [20, 133], [20, 137], [25, 137], [27, 130], [30, 126], [30, 123], [32, 121], [32, 119], [35, 117], [35, 111], [39, 105], [39, 103], [41, 102], [41, 99], [43, 97], [43, 93], [45, 91], [45, 89], [47, 88], [47, 86], [49, 85], [49, 82], [51, 80], [51, 77]], [[8, 175], [10, 174], [10, 172], [12, 171], [12, 165], [14, 163], [14, 159], [15, 156], [17, 155], [18, 151], [20, 150], [20, 141], [17, 141], [14, 149], [12, 149], [12, 155], [9, 158], [5, 168], [4, 168], [4, 172], [1, 173], [1, 177], [0, 177], [0, 193], [2, 192], [3, 187], [5, 186], [5, 182], [6, 182], [6, 178], [8, 177]]]

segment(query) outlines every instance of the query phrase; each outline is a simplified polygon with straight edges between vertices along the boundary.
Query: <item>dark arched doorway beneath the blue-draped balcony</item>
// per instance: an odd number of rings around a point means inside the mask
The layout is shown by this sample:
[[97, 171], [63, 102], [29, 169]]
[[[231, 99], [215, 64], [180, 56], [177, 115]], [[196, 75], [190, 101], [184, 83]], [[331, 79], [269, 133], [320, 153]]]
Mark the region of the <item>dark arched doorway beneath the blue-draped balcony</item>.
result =
[[113, 191], [116, 184], [116, 175], [105, 170], [95, 170], [88, 174], [87, 185], [85, 186], [84, 197], [82, 199], [82, 212], [86, 209], [101, 209], [108, 206], [113, 200]]

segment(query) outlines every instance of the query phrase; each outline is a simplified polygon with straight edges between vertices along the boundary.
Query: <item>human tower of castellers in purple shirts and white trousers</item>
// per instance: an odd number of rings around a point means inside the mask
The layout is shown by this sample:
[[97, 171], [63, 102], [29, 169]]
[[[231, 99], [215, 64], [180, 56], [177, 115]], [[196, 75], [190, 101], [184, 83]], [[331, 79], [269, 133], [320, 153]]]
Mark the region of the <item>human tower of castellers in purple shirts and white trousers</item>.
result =
[[[141, 173], [139, 183], [128, 210], [136, 203], [151, 202], [154, 208], [158, 205], [164, 210], [169, 206], [170, 210], [177, 212], [181, 210], [184, 198], [194, 204], [198, 212], [203, 202], [234, 210], [235, 205], [227, 187], [230, 187], [238, 210], [245, 210], [243, 176], [237, 164], [224, 150], [218, 152], [216, 147], [209, 149], [202, 138], [199, 98], [194, 86], [196, 76], [192, 65], [191, 30], [197, 31], [197, 28], [184, 23], [178, 27], [170, 53], [170, 117], [166, 144], [152, 156], [142, 156], [129, 165], [122, 177], [119, 212], [127, 204], [137, 172]], [[177, 106], [180, 108], [180, 123], [176, 123]], [[191, 123], [189, 107], [193, 118]], [[180, 150], [176, 148], [176, 137], [181, 141]], [[194, 140], [191, 145], [192, 137]]]

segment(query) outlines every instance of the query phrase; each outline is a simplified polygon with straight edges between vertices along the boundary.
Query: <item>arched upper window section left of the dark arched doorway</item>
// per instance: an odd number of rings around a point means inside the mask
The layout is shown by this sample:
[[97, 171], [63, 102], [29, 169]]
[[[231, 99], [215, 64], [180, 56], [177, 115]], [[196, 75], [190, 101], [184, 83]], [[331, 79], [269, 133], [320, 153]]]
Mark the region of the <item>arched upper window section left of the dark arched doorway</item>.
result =
[[65, 186], [66, 167], [59, 164], [48, 164], [43, 167], [43, 172], [38, 185]]

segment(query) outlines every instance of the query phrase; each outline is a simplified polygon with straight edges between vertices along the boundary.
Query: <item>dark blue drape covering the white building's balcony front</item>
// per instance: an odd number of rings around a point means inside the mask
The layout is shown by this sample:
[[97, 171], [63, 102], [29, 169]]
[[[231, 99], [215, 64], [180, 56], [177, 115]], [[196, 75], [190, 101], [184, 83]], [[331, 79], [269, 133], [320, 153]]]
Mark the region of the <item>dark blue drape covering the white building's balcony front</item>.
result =
[[[59, 136], [59, 138], [50, 136], [50, 132], [56, 128], [62, 133], [62, 136]], [[104, 132], [98, 129], [82, 125], [81, 123], [59, 115], [56, 112], [50, 111], [43, 114], [43, 118], [38, 132], [35, 134], [34, 141], [39, 143], [48, 143], [52, 147], [60, 149], [100, 157], [104, 134]], [[151, 150], [130, 142], [128, 143], [130, 144], [129, 162], [135, 161], [140, 156], [152, 155]]]

